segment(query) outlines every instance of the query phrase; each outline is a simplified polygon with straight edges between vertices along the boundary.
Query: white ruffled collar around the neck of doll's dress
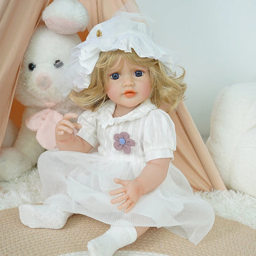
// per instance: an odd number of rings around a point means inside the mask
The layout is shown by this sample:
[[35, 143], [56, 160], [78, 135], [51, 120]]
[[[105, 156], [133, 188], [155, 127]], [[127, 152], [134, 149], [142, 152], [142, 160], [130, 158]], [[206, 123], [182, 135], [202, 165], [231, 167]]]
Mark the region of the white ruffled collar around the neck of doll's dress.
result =
[[142, 118], [151, 110], [156, 110], [157, 107], [150, 100], [145, 100], [145, 102], [141, 103], [134, 110], [130, 111], [128, 114], [124, 116], [120, 116], [118, 118], [113, 118], [114, 109], [116, 108], [116, 103], [111, 100], [107, 100], [102, 107], [98, 110], [98, 125], [105, 128], [106, 126], [112, 126], [113, 124], [119, 124], [121, 122], [135, 120], [138, 118]]

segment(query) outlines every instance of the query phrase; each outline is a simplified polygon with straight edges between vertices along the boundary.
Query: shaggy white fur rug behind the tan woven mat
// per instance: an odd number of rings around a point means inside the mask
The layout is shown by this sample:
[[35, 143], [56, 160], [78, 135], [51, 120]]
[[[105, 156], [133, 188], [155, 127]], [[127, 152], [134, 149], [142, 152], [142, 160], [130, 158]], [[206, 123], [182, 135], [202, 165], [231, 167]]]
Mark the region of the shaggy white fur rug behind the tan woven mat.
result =
[[[12, 182], [0, 182], [0, 188], [0, 210], [17, 207], [23, 203], [42, 202], [41, 182], [37, 169]], [[256, 229], [256, 198], [253, 196], [233, 190], [195, 194], [206, 199], [214, 207], [216, 215]]]

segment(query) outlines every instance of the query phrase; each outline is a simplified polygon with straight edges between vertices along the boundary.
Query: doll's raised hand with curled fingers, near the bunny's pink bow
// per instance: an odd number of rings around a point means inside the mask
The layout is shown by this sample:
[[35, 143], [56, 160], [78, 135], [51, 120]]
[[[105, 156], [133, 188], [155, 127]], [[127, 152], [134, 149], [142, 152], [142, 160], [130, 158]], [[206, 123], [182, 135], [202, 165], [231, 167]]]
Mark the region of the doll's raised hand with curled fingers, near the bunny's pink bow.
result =
[[80, 129], [82, 126], [76, 122], [71, 122], [71, 118], [78, 118], [76, 113], [67, 113], [63, 116], [63, 119], [57, 123], [55, 127], [55, 137], [59, 142], [68, 140], [73, 135], [74, 128]]

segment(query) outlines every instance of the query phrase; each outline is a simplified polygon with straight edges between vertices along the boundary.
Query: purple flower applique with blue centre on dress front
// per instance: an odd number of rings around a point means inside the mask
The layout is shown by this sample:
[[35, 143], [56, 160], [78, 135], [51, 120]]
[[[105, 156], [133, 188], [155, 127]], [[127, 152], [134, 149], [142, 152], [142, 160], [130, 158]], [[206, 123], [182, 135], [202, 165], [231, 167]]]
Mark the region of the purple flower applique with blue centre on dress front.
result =
[[130, 135], [127, 132], [115, 134], [114, 140], [114, 148], [116, 150], [123, 150], [126, 154], [130, 154], [130, 147], [135, 146], [135, 141], [130, 138]]

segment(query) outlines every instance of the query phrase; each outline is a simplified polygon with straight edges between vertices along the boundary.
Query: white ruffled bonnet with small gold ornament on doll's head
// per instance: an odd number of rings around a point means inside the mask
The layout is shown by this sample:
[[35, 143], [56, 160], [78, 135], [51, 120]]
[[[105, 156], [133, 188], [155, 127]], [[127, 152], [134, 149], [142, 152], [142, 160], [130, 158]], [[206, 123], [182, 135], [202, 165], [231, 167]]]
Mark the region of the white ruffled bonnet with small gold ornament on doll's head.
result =
[[135, 50], [138, 56], [154, 58], [172, 70], [175, 52], [164, 49], [153, 40], [153, 31], [142, 14], [117, 12], [110, 20], [102, 22], [90, 31], [86, 41], [74, 47], [70, 63], [62, 69], [60, 91], [67, 95], [71, 89], [81, 91], [90, 84], [90, 75], [100, 52], [111, 50]]

